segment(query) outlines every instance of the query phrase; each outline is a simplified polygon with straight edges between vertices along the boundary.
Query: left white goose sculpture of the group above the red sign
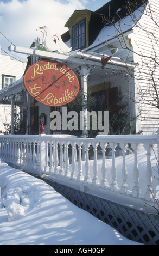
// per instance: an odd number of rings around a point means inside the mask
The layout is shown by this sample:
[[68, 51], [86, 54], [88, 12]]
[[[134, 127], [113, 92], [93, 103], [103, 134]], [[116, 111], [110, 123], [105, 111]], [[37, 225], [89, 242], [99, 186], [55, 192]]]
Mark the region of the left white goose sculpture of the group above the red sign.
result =
[[40, 27], [42, 29], [42, 33], [44, 34], [43, 39], [42, 39], [42, 44], [44, 47], [47, 48], [48, 51], [54, 52], [58, 50], [58, 45], [54, 41], [54, 38], [52, 38], [49, 34], [49, 29], [47, 26]]

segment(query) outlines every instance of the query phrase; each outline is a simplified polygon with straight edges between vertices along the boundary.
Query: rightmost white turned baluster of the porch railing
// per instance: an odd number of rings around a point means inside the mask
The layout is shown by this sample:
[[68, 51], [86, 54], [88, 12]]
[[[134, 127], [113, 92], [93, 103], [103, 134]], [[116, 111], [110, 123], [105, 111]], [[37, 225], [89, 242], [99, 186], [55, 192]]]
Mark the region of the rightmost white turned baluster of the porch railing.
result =
[[144, 148], [145, 150], [147, 150], [147, 190], [145, 192], [145, 200], [150, 201], [153, 196], [154, 196], [154, 192], [152, 190], [152, 181], [153, 181], [153, 177], [152, 177], [152, 167], [151, 167], [151, 148], [152, 145], [151, 144], [144, 144]]

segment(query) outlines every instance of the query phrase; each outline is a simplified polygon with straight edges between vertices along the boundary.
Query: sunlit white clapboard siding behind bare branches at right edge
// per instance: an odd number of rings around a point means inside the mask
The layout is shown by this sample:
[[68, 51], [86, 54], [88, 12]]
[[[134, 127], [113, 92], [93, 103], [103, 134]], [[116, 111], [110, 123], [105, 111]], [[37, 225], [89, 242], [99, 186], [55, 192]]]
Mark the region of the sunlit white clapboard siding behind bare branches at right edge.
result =
[[[153, 10], [152, 15], [154, 21], [152, 20], [151, 14], [149, 13], [149, 7], [145, 10], [145, 14], [142, 15], [141, 20], [139, 20], [139, 26], [136, 25], [134, 28], [134, 33], [138, 35], [138, 53], [143, 56], [148, 56], [148, 58], [135, 56], [135, 62], [139, 63], [139, 88], [142, 92], [147, 92], [147, 100], [152, 99], [152, 85], [149, 82], [151, 70], [155, 70], [154, 77], [155, 82], [158, 84], [159, 89], [159, 67], [154, 67], [154, 62], [149, 58], [150, 56], [159, 56], [158, 43], [156, 38], [159, 38], [159, 28], [155, 25], [155, 21], [158, 22], [159, 4], [156, 0], [150, 0], [150, 8]], [[148, 33], [149, 34], [148, 34]], [[144, 65], [143, 65], [144, 61]], [[156, 107], [149, 105], [140, 105], [141, 115], [145, 120], [141, 121], [140, 130], [144, 133], [155, 132], [158, 129], [159, 123], [159, 110]], [[156, 119], [154, 119], [156, 118]]]

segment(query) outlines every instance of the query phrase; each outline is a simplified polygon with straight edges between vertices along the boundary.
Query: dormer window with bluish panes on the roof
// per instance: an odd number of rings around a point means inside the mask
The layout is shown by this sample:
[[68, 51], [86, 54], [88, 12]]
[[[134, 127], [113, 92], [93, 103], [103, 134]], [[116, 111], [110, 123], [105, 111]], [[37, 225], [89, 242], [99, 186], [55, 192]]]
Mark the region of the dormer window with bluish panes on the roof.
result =
[[72, 27], [72, 50], [86, 47], [86, 20], [81, 20]]

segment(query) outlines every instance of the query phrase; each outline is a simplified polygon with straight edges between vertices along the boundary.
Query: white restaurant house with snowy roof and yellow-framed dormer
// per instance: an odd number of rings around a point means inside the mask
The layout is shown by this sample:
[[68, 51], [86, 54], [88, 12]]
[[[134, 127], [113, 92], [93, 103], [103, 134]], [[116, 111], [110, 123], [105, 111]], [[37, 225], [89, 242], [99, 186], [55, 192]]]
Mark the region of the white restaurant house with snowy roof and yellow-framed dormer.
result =
[[[11, 46], [10, 51], [30, 54], [28, 66], [47, 59], [59, 61], [73, 70], [83, 92], [88, 89], [91, 92], [94, 99], [91, 109], [109, 111], [110, 132], [152, 133], [158, 129], [159, 117], [156, 97], [158, 9], [156, 0], [111, 0], [94, 12], [75, 10], [66, 22], [68, 31], [61, 35], [63, 42], [72, 47], [71, 52], [41, 51], [36, 44], [30, 49]], [[23, 100], [17, 96], [20, 92]], [[59, 111], [62, 114], [62, 107], [44, 105], [30, 96], [23, 77], [7, 90], [0, 91], [1, 102], [4, 99], [11, 102], [12, 94], [15, 96], [12, 104], [21, 106], [27, 133], [39, 133], [41, 118], [45, 133], [61, 132], [58, 128], [50, 129], [53, 120], [50, 113]], [[86, 125], [87, 111], [82, 110], [82, 120]], [[117, 122], [120, 115], [121, 120], [125, 120], [122, 129]]]

